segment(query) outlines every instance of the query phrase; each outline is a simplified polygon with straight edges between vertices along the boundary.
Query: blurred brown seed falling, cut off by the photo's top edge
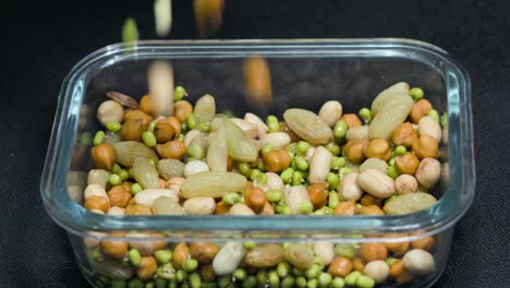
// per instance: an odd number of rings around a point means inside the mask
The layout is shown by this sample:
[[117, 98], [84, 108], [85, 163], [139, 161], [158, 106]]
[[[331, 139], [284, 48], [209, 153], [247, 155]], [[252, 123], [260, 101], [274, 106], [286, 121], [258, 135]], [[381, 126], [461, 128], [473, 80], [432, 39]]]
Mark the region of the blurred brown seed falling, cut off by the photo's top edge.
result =
[[223, 0], [194, 0], [193, 10], [198, 36], [207, 37], [218, 32], [222, 21]]

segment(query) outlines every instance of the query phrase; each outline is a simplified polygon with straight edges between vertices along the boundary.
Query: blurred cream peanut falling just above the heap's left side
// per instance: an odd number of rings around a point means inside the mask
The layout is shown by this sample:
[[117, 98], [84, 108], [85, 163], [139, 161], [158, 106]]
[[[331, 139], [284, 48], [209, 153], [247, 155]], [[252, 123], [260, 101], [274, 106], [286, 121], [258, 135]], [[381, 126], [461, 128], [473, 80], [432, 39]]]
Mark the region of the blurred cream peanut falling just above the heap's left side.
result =
[[153, 116], [173, 113], [173, 70], [167, 61], [155, 61], [148, 68], [149, 103]]

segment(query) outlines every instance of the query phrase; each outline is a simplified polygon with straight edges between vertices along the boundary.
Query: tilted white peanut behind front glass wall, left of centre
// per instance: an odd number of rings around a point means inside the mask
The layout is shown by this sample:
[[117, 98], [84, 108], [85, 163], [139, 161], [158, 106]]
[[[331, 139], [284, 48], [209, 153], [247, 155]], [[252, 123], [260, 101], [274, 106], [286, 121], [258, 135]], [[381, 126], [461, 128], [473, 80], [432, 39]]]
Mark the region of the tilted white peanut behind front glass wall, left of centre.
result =
[[218, 276], [231, 274], [244, 257], [242, 242], [227, 242], [212, 260], [212, 271]]

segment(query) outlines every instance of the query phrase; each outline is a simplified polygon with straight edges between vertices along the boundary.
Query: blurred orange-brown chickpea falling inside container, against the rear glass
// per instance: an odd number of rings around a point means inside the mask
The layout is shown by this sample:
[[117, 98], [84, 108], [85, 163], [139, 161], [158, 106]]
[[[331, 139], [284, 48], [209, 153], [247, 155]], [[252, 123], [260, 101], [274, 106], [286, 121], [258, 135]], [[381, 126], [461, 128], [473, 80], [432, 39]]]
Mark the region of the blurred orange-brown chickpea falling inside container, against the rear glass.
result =
[[244, 60], [243, 71], [246, 100], [255, 106], [271, 105], [271, 74], [267, 61], [259, 56], [252, 56]]

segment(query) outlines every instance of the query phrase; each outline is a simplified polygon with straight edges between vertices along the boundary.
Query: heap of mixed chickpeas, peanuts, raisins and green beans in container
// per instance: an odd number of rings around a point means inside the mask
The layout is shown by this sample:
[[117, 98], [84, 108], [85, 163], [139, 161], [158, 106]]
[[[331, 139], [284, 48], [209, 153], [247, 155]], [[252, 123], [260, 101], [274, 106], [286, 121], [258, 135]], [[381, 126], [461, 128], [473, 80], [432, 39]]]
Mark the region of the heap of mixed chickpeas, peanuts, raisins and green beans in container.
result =
[[[126, 26], [132, 29], [133, 23]], [[162, 65], [159, 69], [166, 69], [169, 77], [170, 68]], [[156, 215], [161, 211], [161, 205], [158, 205], [161, 202], [171, 203], [169, 207], [179, 211], [175, 213], [179, 215], [191, 212], [212, 213], [218, 217], [221, 217], [219, 214], [352, 217], [371, 214], [375, 209], [377, 214], [414, 213], [436, 202], [428, 191], [438, 182], [440, 165], [435, 158], [440, 143], [428, 135], [420, 135], [415, 130], [404, 130], [412, 127], [411, 122], [417, 123], [420, 119], [416, 117], [429, 116], [439, 120], [437, 110], [418, 103], [425, 99], [421, 88], [410, 91], [408, 84], [398, 83], [376, 97], [372, 110], [362, 108], [359, 111], [363, 125], [371, 133], [366, 140], [355, 140], [361, 147], [356, 151], [360, 154], [355, 156], [356, 163], [352, 163], [353, 152], [347, 151], [349, 141], [345, 139], [350, 128], [344, 119], [349, 118], [341, 119], [340, 113], [329, 125], [313, 111], [288, 109], [283, 113], [284, 119], [271, 115], [266, 122], [254, 121], [258, 123], [255, 124], [257, 133], [251, 133], [242, 130], [244, 123], [240, 119], [231, 121], [224, 115], [216, 115], [216, 104], [209, 95], [198, 100], [198, 109], [194, 109], [196, 106], [186, 108], [189, 113], [177, 120], [184, 129], [179, 129], [179, 132], [159, 129], [156, 137], [158, 123], [178, 119], [173, 117], [175, 110], [190, 104], [180, 104], [187, 95], [184, 87], [155, 85], [153, 89], [158, 93], [159, 101], [150, 101], [151, 113], [123, 108], [125, 116], [121, 121], [106, 122], [102, 130], [96, 132], [92, 140], [95, 145], [92, 157], [95, 168], [109, 176], [106, 189], [97, 185], [94, 191], [101, 191], [87, 192], [85, 207], [106, 213], [117, 204], [116, 207], [125, 215]], [[396, 105], [396, 98], [388, 97], [389, 94], [399, 95], [399, 99], [405, 99], [410, 105]], [[123, 97], [117, 98], [118, 103], [137, 107], [134, 99], [126, 100], [129, 96], [121, 95]], [[168, 99], [173, 100], [169, 103]], [[415, 105], [420, 107], [413, 108]], [[328, 107], [332, 106], [323, 107], [324, 113], [328, 112]], [[412, 109], [418, 111], [413, 119], [410, 117]], [[391, 115], [396, 117], [389, 117]], [[253, 117], [251, 115], [250, 119]], [[441, 117], [441, 124], [445, 124], [445, 119]], [[129, 121], [139, 123], [142, 130], [137, 140], [122, 133]], [[264, 135], [281, 133], [279, 122], [286, 122], [289, 133], [294, 133], [299, 140], [279, 148], [280, 143], [271, 143], [271, 137], [266, 137], [269, 142], [258, 145]], [[398, 135], [398, 143], [394, 142], [393, 130], [388, 131], [388, 127], [403, 133]], [[105, 143], [105, 130], [119, 134], [118, 141]], [[412, 143], [405, 142], [410, 135], [414, 139]], [[424, 141], [424, 137], [428, 139]], [[311, 151], [314, 153], [309, 156]], [[402, 168], [404, 158], [401, 157], [405, 155], [412, 156], [409, 157], [413, 159], [413, 169]], [[314, 156], [328, 160], [315, 161]], [[197, 164], [201, 164], [201, 169], [192, 172]], [[401, 175], [412, 178], [408, 180], [413, 180], [413, 183], [420, 182], [421, 187], [406, 185], [404, 189], [402, 185], [410, 181], [399, 180], [396, 189], [394, 179]], [[268, 183], [275, 183], [275, 180], [283, 185], [270, 188]], [[121, 190], [125, 193], [118, 193]], [[400, 194], [402, 191], [405, 193]], [[120, 201], [112, 199], [113, 195], [126, 199]], [[202, 199], [204, 205], [196, 201]], [[185, 202], [187, 204], [184, 205]], [[193, 208], [190, 208], [190, 203]], [[230, 211], [230, 207], [234, 208]], [[116, 235], [119, 236], [123, 235]], [[434, 243], [434, 238], [430, 239]], [[434, 244], [421, 245], [420, 249], [409, 242], [402, 249], [382, 243], [331, 244], [335, 249], [330, 253], [333, 254], [326, 256], [328, 264], [325, 264], [321, 260], [324, 251], [316, 254], [313, 249], [298, 243], [230, 242], [216, 245], [204, 242], [192, 245], [191, 250], [185, 243], [177, 247], [154, 240], [143, 243], [104, 241], [90, 247], [89, 261], [101, 275], [102, 283], [107, 281], [111, 287], [138, 284], [145, 287], [374, 287], [420, 280], [435, 269]], [[377, 265], [365, 267], [369, 275], [377, 275], [376, 278], [363, 273], [363, 265], [371, 262]], [[378, 266], [385, 266], [385, 273], [374, 269]]]

